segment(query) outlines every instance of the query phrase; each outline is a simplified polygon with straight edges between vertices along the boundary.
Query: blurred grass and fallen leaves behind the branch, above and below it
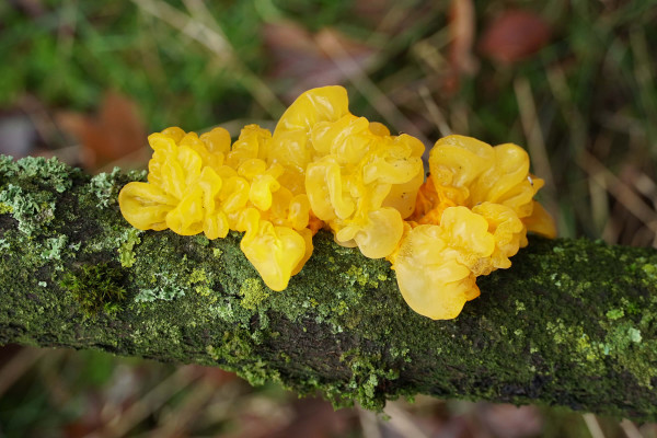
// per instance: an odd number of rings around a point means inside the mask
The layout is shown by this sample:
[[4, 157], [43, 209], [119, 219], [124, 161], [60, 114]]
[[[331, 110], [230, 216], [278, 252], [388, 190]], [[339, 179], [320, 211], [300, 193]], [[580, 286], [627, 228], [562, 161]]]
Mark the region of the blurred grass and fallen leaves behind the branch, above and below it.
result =
[[[657, 242], [657, 1], [4, 0], [0, 153], [146, 168], [149, 132], [273, 127], [302, 91], [422, 139], [516, 142], [560, 235]], [[334, 412], [217, 369], [0, 348], [0, 437], [657, 437], [546, 407]]]

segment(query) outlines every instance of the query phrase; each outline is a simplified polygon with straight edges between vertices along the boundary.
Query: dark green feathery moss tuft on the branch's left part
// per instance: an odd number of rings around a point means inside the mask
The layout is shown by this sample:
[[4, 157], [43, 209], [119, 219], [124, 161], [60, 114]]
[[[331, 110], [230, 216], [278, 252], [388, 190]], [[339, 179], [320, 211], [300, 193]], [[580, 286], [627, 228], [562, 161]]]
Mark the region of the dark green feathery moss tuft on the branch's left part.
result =
[[126, 298], [119, 268], [102, 263], [83, 265], [65, 274], [59, 285], [78, 301], [87, 316], [104, 311], [115, 313]]

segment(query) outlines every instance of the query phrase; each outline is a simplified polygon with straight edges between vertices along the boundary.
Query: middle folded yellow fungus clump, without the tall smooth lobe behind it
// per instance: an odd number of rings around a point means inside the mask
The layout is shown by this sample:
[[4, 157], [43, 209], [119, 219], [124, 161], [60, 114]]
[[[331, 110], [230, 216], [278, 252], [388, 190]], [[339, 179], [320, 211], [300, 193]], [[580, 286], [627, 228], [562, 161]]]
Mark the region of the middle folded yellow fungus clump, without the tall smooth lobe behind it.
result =
[[315, 160], [306, 170], [306, 192], [312, 211], [337, 243], [371, 258], [391, 254], [423, 181], [422, 142], [350, 114], [318, 123], [310, 142]]

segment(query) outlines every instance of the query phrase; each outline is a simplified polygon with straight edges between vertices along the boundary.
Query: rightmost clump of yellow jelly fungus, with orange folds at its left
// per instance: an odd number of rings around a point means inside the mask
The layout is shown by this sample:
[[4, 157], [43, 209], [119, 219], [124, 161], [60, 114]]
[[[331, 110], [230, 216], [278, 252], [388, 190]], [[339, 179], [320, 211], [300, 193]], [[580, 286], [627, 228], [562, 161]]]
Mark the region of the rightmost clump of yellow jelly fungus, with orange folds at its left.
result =
[[389, 260], [408, 306], [445, 320], [479, 296], [477, 276], [510, 267], [528, 231], [556, 231], [533, 200], [543, 181], [530, 175], [529, 157], [516, 145], [449, 136], [434, 146], [429, 169], [410, 230]]

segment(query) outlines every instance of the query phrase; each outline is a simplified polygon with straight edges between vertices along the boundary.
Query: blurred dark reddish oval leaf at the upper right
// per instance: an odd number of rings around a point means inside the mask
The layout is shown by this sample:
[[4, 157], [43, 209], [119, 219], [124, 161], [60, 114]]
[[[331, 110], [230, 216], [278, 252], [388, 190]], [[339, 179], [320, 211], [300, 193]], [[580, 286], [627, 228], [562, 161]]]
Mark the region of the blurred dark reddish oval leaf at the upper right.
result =
[[548, 23], [535, 13], [508, 10], [488, 24], [479, 48], [493, 60], [512, 64], [539, 51], [550, 34]]

